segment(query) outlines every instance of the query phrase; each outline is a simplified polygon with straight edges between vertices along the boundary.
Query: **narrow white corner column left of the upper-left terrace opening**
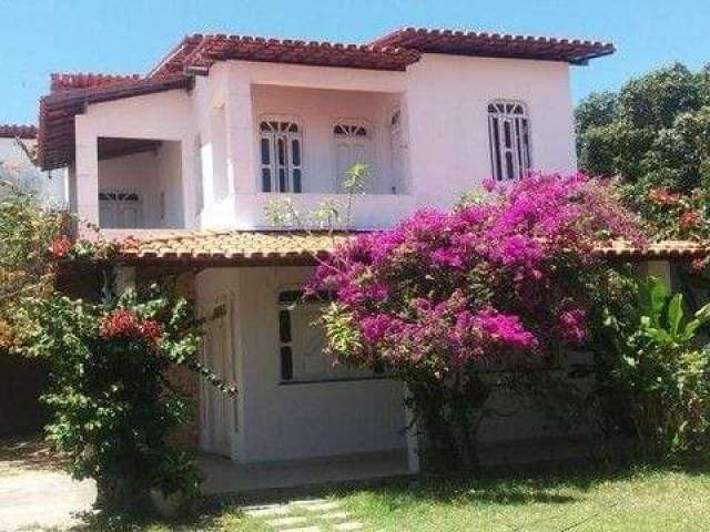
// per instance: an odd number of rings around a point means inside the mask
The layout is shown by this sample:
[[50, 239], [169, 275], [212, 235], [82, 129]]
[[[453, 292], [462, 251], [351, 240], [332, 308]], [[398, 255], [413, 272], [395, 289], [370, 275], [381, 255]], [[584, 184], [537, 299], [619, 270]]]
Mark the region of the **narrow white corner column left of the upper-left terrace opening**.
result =
[[77, 214], [80, 234], [87, 236], [91, 234], [85, 229], [87, 223], [99, 225], [99, 145], [88, 116], [78, 115], [74, 120]]

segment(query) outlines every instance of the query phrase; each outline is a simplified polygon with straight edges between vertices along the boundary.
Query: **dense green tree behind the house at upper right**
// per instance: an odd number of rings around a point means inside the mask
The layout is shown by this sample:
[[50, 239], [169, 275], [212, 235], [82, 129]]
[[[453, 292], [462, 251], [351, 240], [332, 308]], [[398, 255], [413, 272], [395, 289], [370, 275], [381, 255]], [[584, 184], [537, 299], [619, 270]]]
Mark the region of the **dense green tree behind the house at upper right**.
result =
[[710, 186], [710, 66], [674, 63], [592, 94], [576, 111], [581, 167], [620, 176], [628, 195]]

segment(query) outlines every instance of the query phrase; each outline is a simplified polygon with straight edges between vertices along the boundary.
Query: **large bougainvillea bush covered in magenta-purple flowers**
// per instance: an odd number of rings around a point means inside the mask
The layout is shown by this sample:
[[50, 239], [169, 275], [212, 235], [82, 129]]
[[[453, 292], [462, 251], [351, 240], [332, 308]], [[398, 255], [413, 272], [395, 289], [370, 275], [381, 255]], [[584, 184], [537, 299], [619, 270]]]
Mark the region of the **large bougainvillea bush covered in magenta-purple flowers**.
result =
[[613, 188], [581, 174], [486, 190], [453, 213], [425, 209], [356, 236], [310, 286], [334, 295], [329, 349], [404, 380], [427, 448], [458, 467], [476, 463], [476, 428], [496, 387], [585, 346], [607, 275], [590, 252], [643, 239]]

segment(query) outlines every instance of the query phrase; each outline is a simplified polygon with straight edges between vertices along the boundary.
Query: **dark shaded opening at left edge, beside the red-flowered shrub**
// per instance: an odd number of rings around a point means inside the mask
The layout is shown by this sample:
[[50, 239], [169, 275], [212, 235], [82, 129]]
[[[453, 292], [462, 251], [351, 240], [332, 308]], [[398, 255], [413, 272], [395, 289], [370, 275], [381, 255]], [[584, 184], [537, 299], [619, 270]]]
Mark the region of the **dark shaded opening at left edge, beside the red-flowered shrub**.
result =
[[0, 437], [39, 431], [47, 422], [40, 403], [49, 371], [37, 360], [0, 351]]

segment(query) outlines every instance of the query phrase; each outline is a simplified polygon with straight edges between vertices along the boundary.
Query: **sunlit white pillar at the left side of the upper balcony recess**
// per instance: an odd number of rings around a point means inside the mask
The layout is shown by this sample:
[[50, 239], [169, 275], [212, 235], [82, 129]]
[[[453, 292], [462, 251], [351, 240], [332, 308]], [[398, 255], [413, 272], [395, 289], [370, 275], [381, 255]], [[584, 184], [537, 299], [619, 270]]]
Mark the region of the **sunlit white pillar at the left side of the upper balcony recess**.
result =
[[257, 187], [252, 85], [245, 72], [237, 69], [230, 72], [229, 80], [225, 126], [230, 194], [254, 194]]

